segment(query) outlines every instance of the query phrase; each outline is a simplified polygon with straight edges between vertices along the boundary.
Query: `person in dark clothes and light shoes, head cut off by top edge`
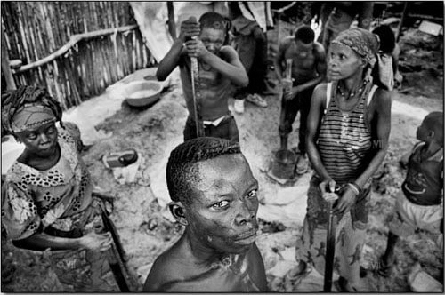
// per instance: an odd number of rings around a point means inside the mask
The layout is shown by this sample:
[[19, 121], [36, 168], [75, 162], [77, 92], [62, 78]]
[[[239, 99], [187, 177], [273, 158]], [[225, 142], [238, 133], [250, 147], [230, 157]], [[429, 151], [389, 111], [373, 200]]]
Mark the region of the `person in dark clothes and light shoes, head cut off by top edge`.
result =
[[[239, 2], [231, 2], [233, 47], [239, 60], [246, 68], [249, 84], [239, 88], [234, 95], [233, 108], [239, 114], [244, 112], [244, 100], [258, 107], [267, 108], [267, 101], [260, 95], [265, 90], [267, 70], [267, 38], [255, 20], [248, 20], [239, 9]], [[246, 8], [247, 9], [247, 8]]]

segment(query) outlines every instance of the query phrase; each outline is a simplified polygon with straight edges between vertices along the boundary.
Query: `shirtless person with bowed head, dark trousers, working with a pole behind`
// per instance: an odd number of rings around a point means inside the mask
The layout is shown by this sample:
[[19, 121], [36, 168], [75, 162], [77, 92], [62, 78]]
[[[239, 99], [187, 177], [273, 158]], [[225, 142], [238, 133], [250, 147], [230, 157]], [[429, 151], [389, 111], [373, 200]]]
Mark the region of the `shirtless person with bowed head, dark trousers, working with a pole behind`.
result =
[[279, 44], [279, 74], [286, 67], [286, 60], [292, 60], [292, 84], [282, 80], [283, 103], [279, 122], [281, 149], [287, 149], [287, 137], [292, 132], [298, 110], [300, 111], [299, 143], [300, 156], [296, 172], [303, 174], [308, 168], [305, 147], [306, 121], [311, 106], [313, 89], [326, 76], [326, 53], [323, 46], [314, 42], [312, 28], [303, 26], [295, 30], [295, 36], [285, 37]]

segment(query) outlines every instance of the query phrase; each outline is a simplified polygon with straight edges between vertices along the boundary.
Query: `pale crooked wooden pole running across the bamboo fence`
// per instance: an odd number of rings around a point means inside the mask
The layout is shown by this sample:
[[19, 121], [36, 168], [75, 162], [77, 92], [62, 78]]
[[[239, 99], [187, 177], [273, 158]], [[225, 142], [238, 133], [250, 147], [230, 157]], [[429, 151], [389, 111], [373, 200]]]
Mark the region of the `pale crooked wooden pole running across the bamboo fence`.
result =
[[[134, 28], [138, 28], [138, 25], [131, 25], [131, 26], [125, 26], [125, 27], [119, 27], [119, 28], [106, 28], [106, 29], [100, 29], [100, 30], [93, 31], [93, 32], [72, 35], [69, 37], [69, 42], [67, 44], [64, 44], [63, 46], [61, 46], [61, 48], [59, 48], [56, 52], [53, 52], [52, 54], [48, 55], [47, 57], [45, 57], [41, 60], [36, 60], [34, 62], [29, 63], [28, 65], [20, 67], [19, 69], [13, 71], [12, 74], [19, 74], [19, 73], [26, 72], [32, 68], [41, 67], [44, 64], [51, 62], [51, 61], [57, 59], [58, 57], [60, 57], [61, 55], [65, 54], [66, 52], [68, 52], [71, 47], [73, 47], [75, 44], [77, 44], [81, 40], [87, 40], [87, 39], [97, 38], [97, 37], [101, 37], [101, 36], [108, 36], [111, 34], [115, 34], [117, 32], [129, 31]], [[3, 54], [2, 54], [2, 56], [3, 56]]]

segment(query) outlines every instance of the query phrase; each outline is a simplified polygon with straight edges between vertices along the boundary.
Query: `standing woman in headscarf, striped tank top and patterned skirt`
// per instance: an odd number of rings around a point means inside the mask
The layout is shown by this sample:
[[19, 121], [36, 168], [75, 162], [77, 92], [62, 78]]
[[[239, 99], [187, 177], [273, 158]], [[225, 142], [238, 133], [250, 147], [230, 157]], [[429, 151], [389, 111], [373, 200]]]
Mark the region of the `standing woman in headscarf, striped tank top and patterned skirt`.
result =
[[323, 195], [341, 187], [334, 212], [336, 228], [334, 269], [340, 291], [357, 291], [360, 253], [368, 222], [370, 179], [383, 162], [391, 127], [391, 96], [373, 84], [376, 36], [362, 28], [340, 33], [329, 46], [328, 84], [312, 95], [306, 145], [314, 169], [308, 191], [303, 235], [297, 241], [295, 269], [303, 274], [313, 263], [324, 274], [328, 202]]

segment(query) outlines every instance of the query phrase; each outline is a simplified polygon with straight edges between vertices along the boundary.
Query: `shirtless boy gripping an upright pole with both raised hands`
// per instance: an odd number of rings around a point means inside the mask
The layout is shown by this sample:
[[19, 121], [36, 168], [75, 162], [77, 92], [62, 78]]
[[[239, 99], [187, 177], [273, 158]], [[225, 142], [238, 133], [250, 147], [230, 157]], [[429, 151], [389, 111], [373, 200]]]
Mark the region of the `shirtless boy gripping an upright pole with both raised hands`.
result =
[[[198, 36], [196, 39], [191, 37]], [[201, 99], [197, 101], [206, 136], [239, 141], [238, 127], [228, 108], [232, 86], [246, 87], [248, 77], [237, 52], [224, 45], [227, 20], [216, 12], [206, 12], [199, 23], [190, 18], [182, 22], [180, 36], [166, 57], [159, 62], [157, 77], [163, 81], [179, 66], [182, 91], [189, 117], [184, 128], [184, 140], [198, 137], [190, 74], [190, 57], [198, 59]], [[201, 124], [200, 122], [198, 124]]]

